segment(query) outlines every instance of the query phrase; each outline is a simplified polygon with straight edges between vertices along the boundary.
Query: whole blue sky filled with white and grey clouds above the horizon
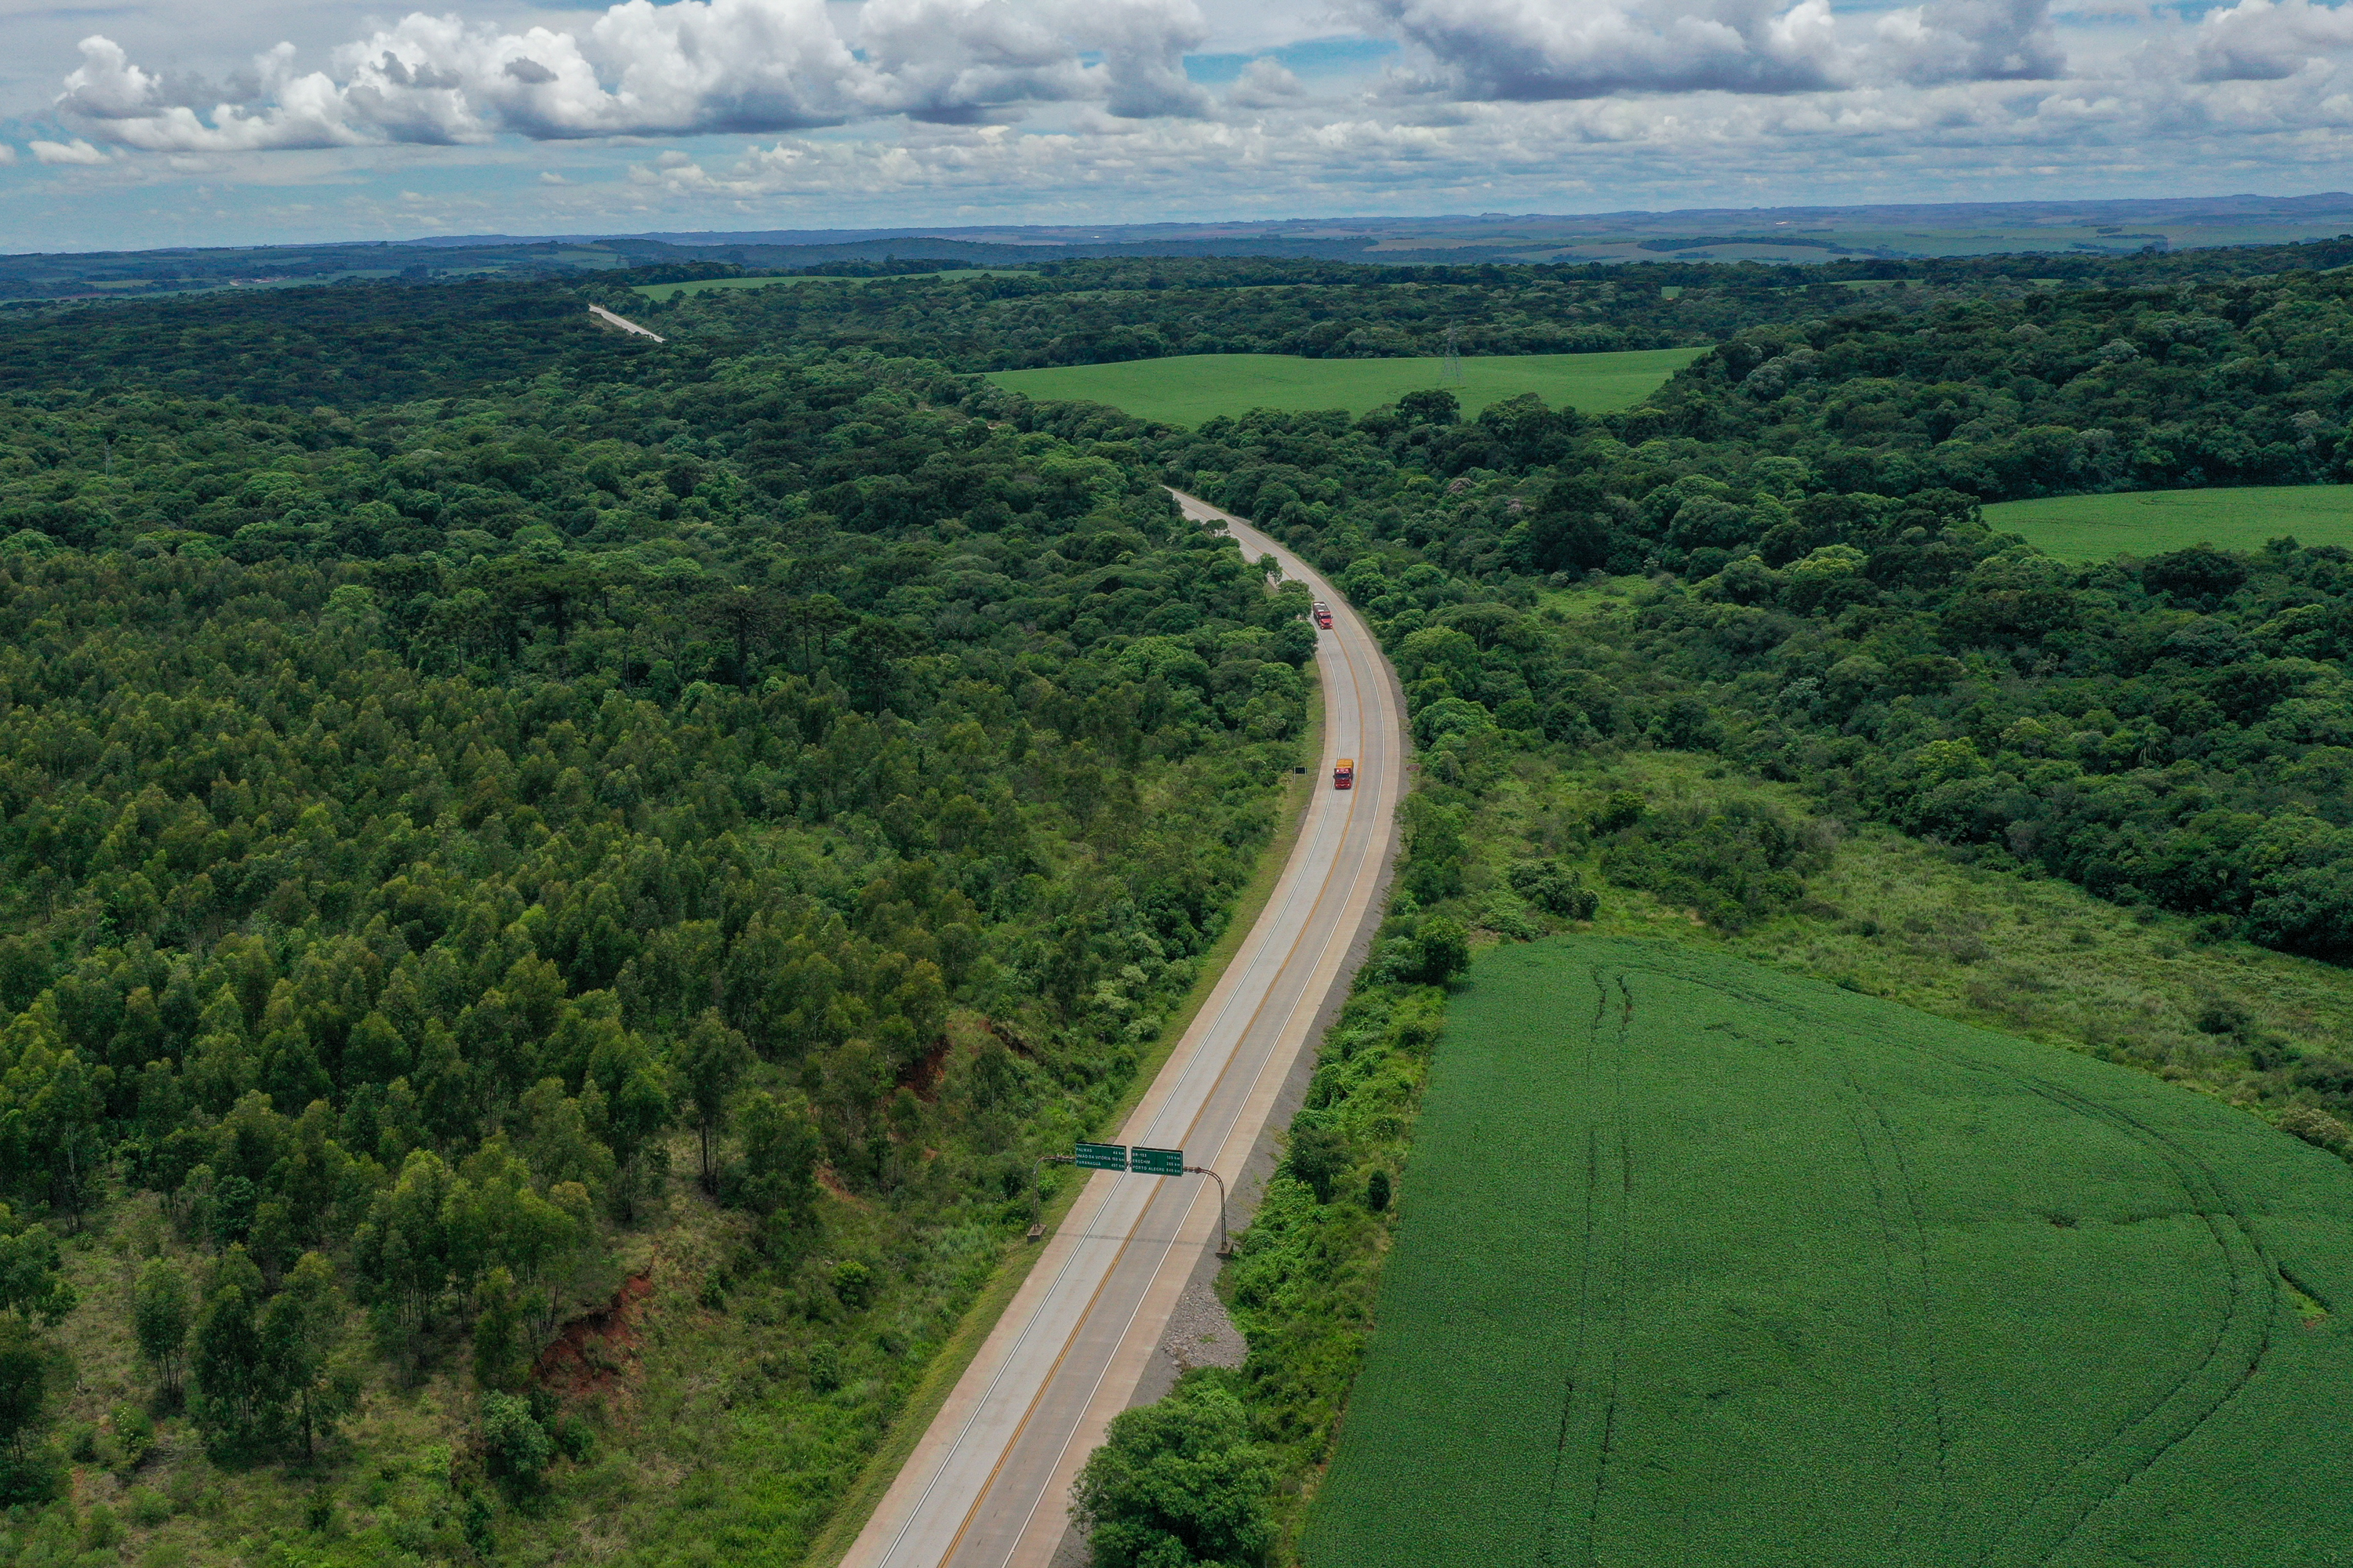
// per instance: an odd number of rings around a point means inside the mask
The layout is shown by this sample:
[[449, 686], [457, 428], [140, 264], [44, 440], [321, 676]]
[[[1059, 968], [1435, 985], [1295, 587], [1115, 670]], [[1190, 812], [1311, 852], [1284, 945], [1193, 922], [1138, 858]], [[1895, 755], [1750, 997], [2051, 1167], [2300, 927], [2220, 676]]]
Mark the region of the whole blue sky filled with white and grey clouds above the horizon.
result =
[[2271, 195], [2353, 0], [0, 0], [0, 249]]

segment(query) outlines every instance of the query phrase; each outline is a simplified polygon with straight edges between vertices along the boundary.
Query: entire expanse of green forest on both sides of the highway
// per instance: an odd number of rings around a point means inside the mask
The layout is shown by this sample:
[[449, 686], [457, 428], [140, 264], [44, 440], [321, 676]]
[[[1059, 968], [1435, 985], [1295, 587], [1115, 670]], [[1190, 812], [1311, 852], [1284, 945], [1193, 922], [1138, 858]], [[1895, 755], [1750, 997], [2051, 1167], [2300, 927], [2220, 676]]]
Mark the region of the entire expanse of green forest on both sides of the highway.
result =
[[[2353, 957], [2353, 555], [2068, 567], [1979, 512], [2341, 480], [2353, 284], [2287, 261], [1073, 261], [711, 292], [645, 310], [664, 346], [586, 324], [626, 280], [12, 315], [0, 1559], [115, 1514], [353, 1563], [541, 1561], [591, 1516], [621, 1561], [807, 1542], [1035, 1157], [1165, 1044], [1299, 759], [1301, 595], [1162, 484], [1377, 621], [1421, 783], [1231, 1269], [1249, 1363], [1122, 1427], [1104, 1519], [1181, 1448], [1273, 1542], [1438, 987], [1593, 912], [1565, 856], [1720, 931], [1807, 903], [1824, 844], [1767, 809], [1482, 842], [1532, 771], [1697, 755]], [[976, 376], [1449, 327], [1711, 348], [1609, 416], [1433, 388], [1174, 430]], [[2217, 1039], [2217, 1086], [2353, 1143], [2353, 1058]], [[659, 1420], [576, 1333], [647, 1281], [645, 1366], [701, 1356], [640, 1378]], [[1160, 1549], [1122, 1530], [1106, 1561]]]

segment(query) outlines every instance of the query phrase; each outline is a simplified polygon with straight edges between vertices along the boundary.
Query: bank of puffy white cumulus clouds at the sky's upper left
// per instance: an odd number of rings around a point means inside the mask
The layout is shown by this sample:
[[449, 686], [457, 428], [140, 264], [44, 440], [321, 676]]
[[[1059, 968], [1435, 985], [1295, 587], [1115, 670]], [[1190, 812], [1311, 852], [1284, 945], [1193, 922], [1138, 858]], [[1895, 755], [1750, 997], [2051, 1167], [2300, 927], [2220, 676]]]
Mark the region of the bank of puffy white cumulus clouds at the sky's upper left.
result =
[[1195, 115], [1193, 0], [868, 0], [859, 45], [826, 0], [624, 0], [586, 31], [414, 12], [296, 73], [292, 45], [224, 89], [169, 82], [85, 38], [59, 108], [144, 150], [779, 132], [906, 113], [974, 122], [1026, 103]]

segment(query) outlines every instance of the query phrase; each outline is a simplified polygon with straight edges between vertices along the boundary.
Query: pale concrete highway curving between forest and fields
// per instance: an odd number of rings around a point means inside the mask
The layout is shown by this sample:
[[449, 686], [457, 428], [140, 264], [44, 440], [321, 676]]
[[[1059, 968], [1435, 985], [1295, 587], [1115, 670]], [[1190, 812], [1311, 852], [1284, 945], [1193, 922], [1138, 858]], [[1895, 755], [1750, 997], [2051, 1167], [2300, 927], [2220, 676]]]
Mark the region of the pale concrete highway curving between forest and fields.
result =
[[[1381, 649], [1332, 585], [1238, 517], [1174, 494], [1186, 517], [1224, 522], [1249, 559], [1273, 555], [1332, 607], [1315, 649], [1325, 755], [1299, 842], [1259, 924], [1118, 1133], [1127, 1145], [1181, 1147], [1186, 1164], [1212, 1166], [1231, 1187], [1315, 1013], [1346, 983], [1388, 856], [1405, 738]], [[1355, 757], [1353, 790], [1332, 788], [1334, 757]], [[1214, 1182], [1096, 1171], [845, 1568], [1045, 1568], [1068, 1528], [1078, 1467], [1127, 1408], [1214, 1239]]]

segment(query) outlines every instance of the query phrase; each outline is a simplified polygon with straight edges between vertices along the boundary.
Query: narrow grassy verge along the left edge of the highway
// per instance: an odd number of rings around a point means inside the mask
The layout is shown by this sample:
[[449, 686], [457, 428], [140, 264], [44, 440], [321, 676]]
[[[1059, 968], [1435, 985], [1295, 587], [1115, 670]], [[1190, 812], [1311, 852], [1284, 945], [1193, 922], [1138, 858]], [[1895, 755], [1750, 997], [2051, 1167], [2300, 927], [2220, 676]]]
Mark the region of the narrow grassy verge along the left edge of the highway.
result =
[[[1308, 670], [1313, 672], [1313, 665], [1308, 665]], [[1104, 1133], [1111, 1133], [1127, 1121], [1136, 1105], [1144, 1103], [1144, 1095], [1151, 1091], [1160, 1070], [1176, 1051], [1176, 1041], [1181, 1041], [1186, 1030], [1193, 1027], [1200, 1009], [1209, 1001], [1209, 992], [1217, 990], [1217, 983], [1226, 976], [1226, 966], [1233, 961], [1233, 954], [1242, 950], [1242, 940], [1249, 936], [1249, 929], [1259, 924], [1259, 914], [1275, 896], [1275, 884], [1282, 879], [1282, 865], [1292, 858], [1292, 846], [1299, 842], [1299, 827], [1306, 823], [1308, 802], [1315, 797], [1315, 759], [1322, 757], [1322, 684], [1311, 675], [1311, 686], [1313, 701], [1308, 703], [1308, 712], [1313, 715], [1313, 722], [1299, 741], [1301, 755], [1308, 757], [1308, 771], [1292, 773], [1282, 785], [1282, 806], [1275, 816], [1275, 832], [1266, 842], [1266, 849], [1259, 851], [1259, 865], [1233, 905], [1233, 919], [1226, 922], [1226, 931], [1202, 959], [1200, 978], [1195, 978], [1193, 990], [1186, 992], [1184, 1006], [1169, 1013], [1167, 1027], [1160, 1030], [1160, 1039], [1136, 1060], [1136, 1072], [1127, 1093], [1122, 1093], [1104, 1114], [1099, 1128]], [[1071, 1206], [1078, 1201], [1082, 1190], [1085, 1182], [1068, 1182], [1045, 1204], [1042, 1218], [1047, 1234], [1061, 1227], [1064, 1215], [1071, 1213]], [[906, 1406], [899, 1410], [899, 1418], [882, 1436], [873, 1458], [859, 1472], [856, 1483], [842, 1497], [833, 1519], [809, 1544], [809, 1554], [802, 1559], [807, 1568], [835, 1568], [842, 1556], [849, 1554], [859, 1530], [866, 1528], [866, 1521], [882, 1505], [882, 1495], [899, 1476], [899, 1467], [904, 1467], [908, 1455], [915, 1453], [915, 1443], [922, 1441], [925, 1432], [929, 1432], [939, 1408], [948, 1403], [948, 1394], [955, 1389], [955, 1382], [965, 1375], [965, 1368], [972, 1366], [972, 1359], [981, 1354], [981, 1345], [988, 1340], [991, 1331], [995, 1331], [998, 1319], [1021, 1291], [1021, 1281], [1028, 1279], [1028, 1272], [1042, 1251], [1042, 1246], [1031, 1246], [1026, 1241], [1014, 1241], [1005, 1248], [1005, 1255], [988, 1276], [988, 1284], [981, 1286], [981, 1293], [955, 1326], [955, 1333], [932, 1359], [922, 1382], [915, 1385], [913, 1396], [908, 1396]]]

